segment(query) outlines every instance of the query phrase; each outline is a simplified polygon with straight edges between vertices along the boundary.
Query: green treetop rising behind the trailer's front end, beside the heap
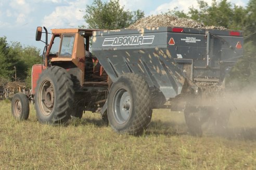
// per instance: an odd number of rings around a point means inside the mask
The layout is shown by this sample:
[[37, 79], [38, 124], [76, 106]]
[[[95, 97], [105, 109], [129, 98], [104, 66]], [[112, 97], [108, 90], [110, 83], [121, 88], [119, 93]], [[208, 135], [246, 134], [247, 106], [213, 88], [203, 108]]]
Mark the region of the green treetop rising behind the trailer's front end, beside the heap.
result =
[[124, 10], [119, 4], [119, 0], [110, 0], [109, 2], [101, 2], [94, 0], [92, 5], [87, 5], [85, 9], [84, 20], [89, 29], [124, 29], [138, 19], [144, 17], [144, 12], [140, 10], [129, 11]]

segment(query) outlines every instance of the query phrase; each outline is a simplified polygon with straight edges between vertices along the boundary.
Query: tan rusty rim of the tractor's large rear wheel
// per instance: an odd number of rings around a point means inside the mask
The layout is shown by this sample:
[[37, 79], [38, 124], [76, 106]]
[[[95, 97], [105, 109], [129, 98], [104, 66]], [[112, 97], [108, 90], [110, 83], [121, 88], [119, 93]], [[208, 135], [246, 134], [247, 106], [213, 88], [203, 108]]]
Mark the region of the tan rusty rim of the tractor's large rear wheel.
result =
[[44, 116], [51, 114], [54, 108], [54, 86], [49, 80], [44, 80], [39, 90], [39, 106]]

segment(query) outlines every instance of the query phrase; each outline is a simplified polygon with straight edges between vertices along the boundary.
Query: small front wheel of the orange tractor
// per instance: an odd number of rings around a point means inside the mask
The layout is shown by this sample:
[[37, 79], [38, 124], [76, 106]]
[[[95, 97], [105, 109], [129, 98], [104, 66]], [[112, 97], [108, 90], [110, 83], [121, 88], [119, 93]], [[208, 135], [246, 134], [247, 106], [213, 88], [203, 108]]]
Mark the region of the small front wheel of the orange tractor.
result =
[[29, 99], [24, 93], [16, 93], [11, 100], [11, 112], [17, 120], [29, 118]]

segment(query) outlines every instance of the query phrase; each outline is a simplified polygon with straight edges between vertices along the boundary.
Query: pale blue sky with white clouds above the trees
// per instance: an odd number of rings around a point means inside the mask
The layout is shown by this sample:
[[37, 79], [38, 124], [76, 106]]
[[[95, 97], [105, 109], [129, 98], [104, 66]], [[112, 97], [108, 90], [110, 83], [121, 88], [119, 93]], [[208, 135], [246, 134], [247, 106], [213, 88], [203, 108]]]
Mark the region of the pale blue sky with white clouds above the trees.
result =
[[[106, 2], [106, 0], [102, 0]], [[211, 4], [211, 0], [204, 0]], [[232, 4], [246, 6], [249, 0], [228, 0]], [[44, 44], [35, 41], [37, 26], [50, 29], [75, 28], [86, 25], [83, 16], [86, 5], [93, 0], [0, 0], [0, 37], [7, 37], [8, 43], [20, 42], [23, 46], [42, 49]], [[197, 0], [120, 0], [127, 10], [140, 9], [145, 16], [167, 12], [175, 7], [188, 11], [197, 8]]]

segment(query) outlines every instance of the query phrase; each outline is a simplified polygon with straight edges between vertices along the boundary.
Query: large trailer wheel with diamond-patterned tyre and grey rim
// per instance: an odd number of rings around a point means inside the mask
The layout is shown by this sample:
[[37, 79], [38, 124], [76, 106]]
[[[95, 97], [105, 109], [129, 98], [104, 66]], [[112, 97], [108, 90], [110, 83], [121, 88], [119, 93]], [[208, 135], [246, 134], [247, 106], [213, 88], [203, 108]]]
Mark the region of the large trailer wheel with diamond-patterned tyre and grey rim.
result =
[[107, 105], [109, 124], [118, 133], [140, 135], [151, 120], [150, 90], [137, 74], [122, 75], [112, 84]]

